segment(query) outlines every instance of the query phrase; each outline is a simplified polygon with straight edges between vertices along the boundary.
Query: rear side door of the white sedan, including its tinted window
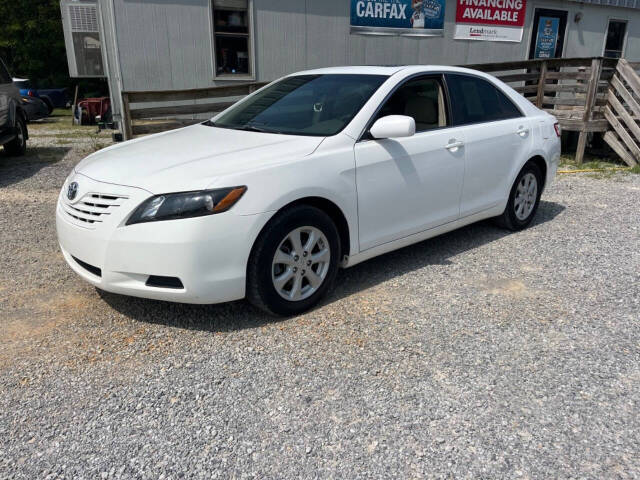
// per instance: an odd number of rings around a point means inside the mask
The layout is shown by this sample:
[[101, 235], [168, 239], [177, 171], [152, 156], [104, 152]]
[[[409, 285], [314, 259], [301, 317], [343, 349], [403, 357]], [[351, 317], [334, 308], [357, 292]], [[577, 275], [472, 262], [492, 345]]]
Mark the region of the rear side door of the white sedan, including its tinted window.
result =
[[511, 189], [514, 166], [531, 150], [531, 119], [489, 81], [447, 74], [454, 125], [464, 127], [465, 173], [460, 216], [495, 207]]

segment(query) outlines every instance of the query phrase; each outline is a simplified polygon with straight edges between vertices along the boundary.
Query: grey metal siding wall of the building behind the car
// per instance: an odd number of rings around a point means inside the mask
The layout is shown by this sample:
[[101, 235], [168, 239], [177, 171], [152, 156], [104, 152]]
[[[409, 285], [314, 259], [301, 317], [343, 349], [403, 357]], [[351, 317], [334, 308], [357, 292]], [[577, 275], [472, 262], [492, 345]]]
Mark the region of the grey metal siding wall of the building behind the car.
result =
[[[225, 85], [213, 75], [210, 0], [99, 0], [112, 95]], [[454, 40], [455, 3], [447, 2], [444, 37], [375, 37], [349, 32], [349, 0], [253, 0], [257, 80], [330, 65], [466, 64], [527, 58], [535, 8], [567, 10], [564, 56], [598, 56], [610, 17], [628, 23], [625, 56], [640, 60], [640, 10], [569, 0], [529, 0], [522, 42]], [[579, 23], [575, 13], [583, 13]], [[109, 40], [108, 39], [108, 40]], [[114, 68], [114, 63], [119, 65]], [[115, 98], [114, 98], [115, 100]]]

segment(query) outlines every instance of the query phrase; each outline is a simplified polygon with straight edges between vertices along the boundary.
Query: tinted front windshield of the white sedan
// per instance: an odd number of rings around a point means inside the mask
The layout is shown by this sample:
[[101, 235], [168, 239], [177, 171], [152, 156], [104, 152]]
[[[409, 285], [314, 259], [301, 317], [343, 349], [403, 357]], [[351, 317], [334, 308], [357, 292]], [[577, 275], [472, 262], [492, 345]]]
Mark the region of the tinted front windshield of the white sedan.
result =
[[206, 125], [287, 135], [335, 135], [387, 78], [353, 74], [287, 77]]

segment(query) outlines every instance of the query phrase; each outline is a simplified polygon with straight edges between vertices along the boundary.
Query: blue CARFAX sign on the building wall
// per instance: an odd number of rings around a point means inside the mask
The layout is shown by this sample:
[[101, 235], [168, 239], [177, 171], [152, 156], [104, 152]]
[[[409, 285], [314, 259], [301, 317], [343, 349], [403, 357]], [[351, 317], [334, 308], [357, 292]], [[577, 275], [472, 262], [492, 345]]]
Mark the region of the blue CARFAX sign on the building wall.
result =
[[371, 35], [442, 35], [445, 0], [351, 0], [351, 31]]

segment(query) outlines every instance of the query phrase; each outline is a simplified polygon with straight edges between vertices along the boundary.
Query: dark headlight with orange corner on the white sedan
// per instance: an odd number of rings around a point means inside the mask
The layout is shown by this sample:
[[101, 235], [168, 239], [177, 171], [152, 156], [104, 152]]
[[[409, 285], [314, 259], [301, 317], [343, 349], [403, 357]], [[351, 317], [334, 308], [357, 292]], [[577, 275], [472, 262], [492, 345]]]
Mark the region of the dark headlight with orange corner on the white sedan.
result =
[[126, 224], [177, 220], [226, 212], [246, 191], [247, 187], [231, 187], [156, 195], [142, 202]]

